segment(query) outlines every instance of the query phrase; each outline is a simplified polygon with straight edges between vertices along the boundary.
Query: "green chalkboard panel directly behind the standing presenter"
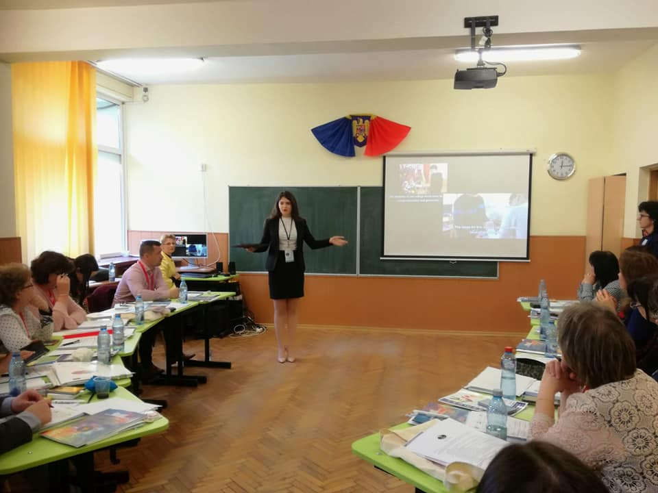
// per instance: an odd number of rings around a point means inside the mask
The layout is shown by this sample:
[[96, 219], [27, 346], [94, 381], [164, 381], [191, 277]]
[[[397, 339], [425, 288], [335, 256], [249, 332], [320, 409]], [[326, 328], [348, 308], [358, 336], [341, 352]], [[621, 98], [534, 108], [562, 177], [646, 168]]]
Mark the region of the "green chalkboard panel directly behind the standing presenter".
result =
[[[281, 187], [229, 187], [229, 243], [257, 243]], [[300, 207], [300, 215], [317, 240], [345, 236], [345, 247], [311, 250], [304, 247], [306, 273], [356, 275], [357, 187], [288, 187]], [[231, 248], [230, 258], [241, 272], [265, 271], [267, 253]]]

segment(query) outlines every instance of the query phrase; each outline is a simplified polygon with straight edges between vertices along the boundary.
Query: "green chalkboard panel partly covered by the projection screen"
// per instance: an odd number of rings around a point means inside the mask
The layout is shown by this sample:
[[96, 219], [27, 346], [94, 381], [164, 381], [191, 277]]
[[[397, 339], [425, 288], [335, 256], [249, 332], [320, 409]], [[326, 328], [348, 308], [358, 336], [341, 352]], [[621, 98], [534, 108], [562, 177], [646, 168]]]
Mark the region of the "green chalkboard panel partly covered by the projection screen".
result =
[[498, 277], [497, 262], [380, 260], [384, 231], [383, 207], [382, 187], [361, 187], [360, 275]]

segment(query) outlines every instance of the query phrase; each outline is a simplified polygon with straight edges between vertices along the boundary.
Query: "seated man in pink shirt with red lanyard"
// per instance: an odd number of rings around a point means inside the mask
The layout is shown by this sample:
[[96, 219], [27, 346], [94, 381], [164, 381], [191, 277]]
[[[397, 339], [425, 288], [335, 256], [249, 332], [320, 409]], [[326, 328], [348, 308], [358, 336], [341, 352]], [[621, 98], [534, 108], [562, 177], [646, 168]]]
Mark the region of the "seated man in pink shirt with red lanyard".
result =
[[[144, 240], [139, 246], [139, 261], [132, 264], [117, 286], [112, 306], [117, 303], [132, 303], [136, 296], [142, 296], [144, 301], [160, 301], [178, 297], [178, 288], [167, 288], [162, 278], [162, 271], [158, 268], [162, 262], [162, 247], [156, 240]], [[162, 372], [153, 364], [152, 351], [156, 337], [156, 330], [147, 330], [142, 334], [139, 343], [139, 358], [142, 362], [145, 380], [155, 377]]]

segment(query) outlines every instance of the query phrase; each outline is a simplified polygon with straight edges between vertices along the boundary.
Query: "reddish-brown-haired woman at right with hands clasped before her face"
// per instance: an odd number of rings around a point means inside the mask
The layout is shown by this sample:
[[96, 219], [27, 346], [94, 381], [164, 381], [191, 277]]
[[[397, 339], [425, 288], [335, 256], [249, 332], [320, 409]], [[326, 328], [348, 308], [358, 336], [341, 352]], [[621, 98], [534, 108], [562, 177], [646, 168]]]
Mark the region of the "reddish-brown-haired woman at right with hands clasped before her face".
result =
[[[658, 257], [645, 247], [629, 247], [619, 257], [619, 284], [627, 290], [630, 283], [640, 277], [658, 274]], [[596, 301], [615, 310], [616, 303], [605, 289], [596, 293]], [[627, 300], [618, 307], [624, 325], [631, 334], [637, 348], [643, 348], [653, 336], [656, 326], [639, 313], [636, 306], [631, 306]]]

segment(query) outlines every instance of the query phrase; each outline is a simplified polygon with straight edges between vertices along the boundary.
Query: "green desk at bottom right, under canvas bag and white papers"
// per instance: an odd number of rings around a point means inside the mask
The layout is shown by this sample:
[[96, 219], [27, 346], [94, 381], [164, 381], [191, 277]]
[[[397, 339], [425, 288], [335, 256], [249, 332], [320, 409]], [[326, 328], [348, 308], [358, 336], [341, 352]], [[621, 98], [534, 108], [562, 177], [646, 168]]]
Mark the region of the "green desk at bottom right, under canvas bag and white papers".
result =
[[[516, 414], [514, 417], [529, 421], [533, 418], [533, 414], [535, 414], [535, 406], [528, 405], [526, 409], [519, 414]], [[391, 427], [391, 429], [408, 428], [410, 426], [411, 425], [403, 423]], [[443, 486], [442, 481], [431, 477], [426, 472], [404, 462], [402, 459], [391, 457], [385, 452], [382, 452], [379, 448], [380, 440], [380, 433], [373, 433], [372, 435], [361, 438], [361, 440], [356, 440], [356, 442], [352, 444], [352, 453], [357, 457], [361, 457], [365, 462], [369, 462], [376, 468], [388, 472], [390, 475], [393, 475], [398, 479], [402, 479], [405, 483], [413, 485], [416, 493], [448, 492], [446, 487]]]

